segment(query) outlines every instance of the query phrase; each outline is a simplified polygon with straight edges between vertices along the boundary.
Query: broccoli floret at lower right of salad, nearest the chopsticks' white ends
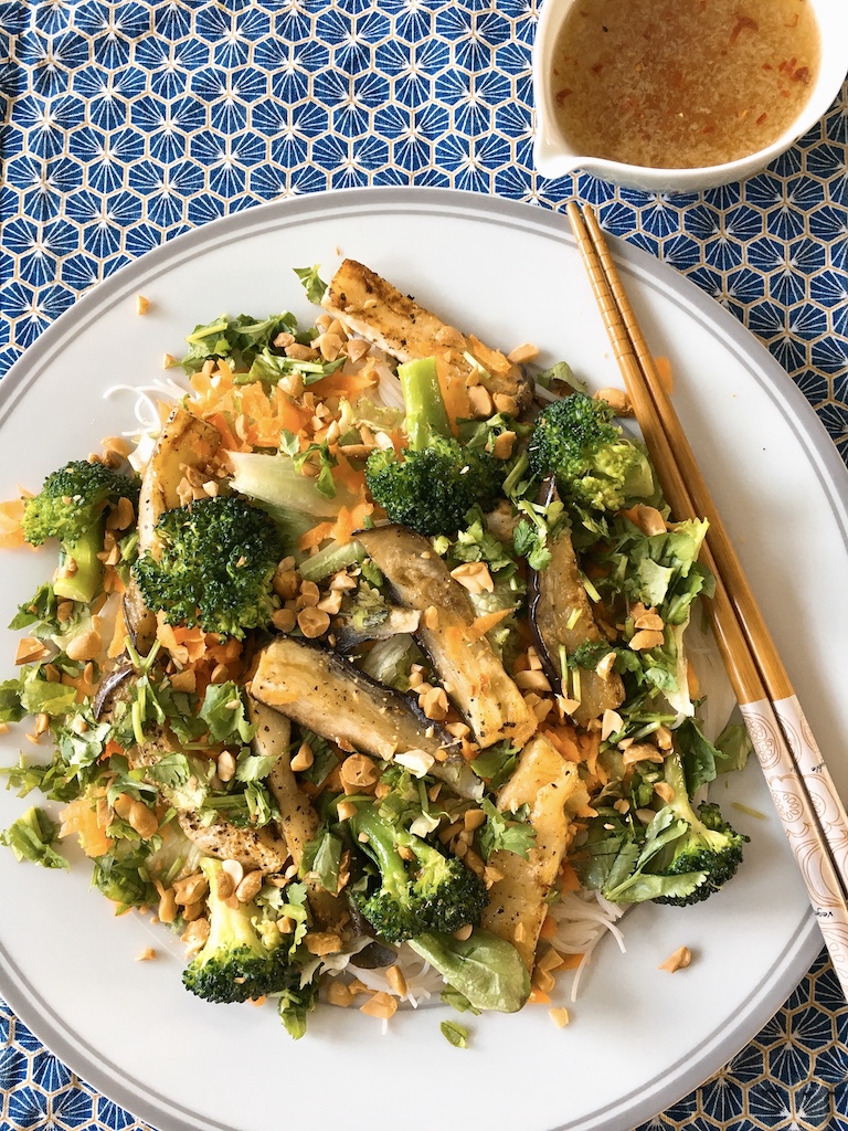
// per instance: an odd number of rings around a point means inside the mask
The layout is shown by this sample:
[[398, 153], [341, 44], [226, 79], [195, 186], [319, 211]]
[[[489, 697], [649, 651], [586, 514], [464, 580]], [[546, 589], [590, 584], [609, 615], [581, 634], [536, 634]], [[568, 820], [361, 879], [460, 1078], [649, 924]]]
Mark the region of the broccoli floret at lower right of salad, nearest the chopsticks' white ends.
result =
[[677, 820], [685, 821], [686, 831], [666, 849], [668, 858], [663, 861], [659, 874], [700, 874], [703, 879], [686, 896], [658, 896], [655, 901], [685, 907], [707, 899], [733, 879], [742, 863], [742, 846], [750, 837], [732, 829], [716, 804], [703, 802], [694, 811], [677, 754], [666, 759], [665, 779], [674, 789], [667, 805]]

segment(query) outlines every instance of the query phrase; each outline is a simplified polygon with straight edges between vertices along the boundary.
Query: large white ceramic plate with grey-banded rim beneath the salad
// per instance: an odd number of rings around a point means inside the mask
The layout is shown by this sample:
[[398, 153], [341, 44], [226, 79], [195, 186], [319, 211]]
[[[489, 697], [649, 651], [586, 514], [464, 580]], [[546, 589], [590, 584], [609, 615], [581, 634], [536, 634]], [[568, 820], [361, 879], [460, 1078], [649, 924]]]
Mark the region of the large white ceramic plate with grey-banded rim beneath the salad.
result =
[[[196, 323], [224, 311], [308, 317], [291, 268], [320, 262], [329, 275], [339, 253], [484, 340], [535, 342], [543, 361], [565, 357], [595, 387], [617, 382], [563, 217], [439, 190], [328, 193], [209, 224], [63, 314], [0, 385], [0, 498], [19, 482], [37, 489], [64, 459], [128, 426], [131, 398], [106, 402], [104, 389], [161, 377], [163, 353], [179, 355]], [[649, 342], [672, 360], [684, 425], [848, 792], [845, 469], [802, 395], [729, 314], [647, 254], [623, 245], [616, 254]], [[144, 318], [139, 293], [150, 300]], [[28, 552], [2, 559], [3, 622], [49, 569]], [[0, 644], [8, 675], [15, 638]], [[33, 754], [10, 735], [5, 762], [19, 744]], [[629, 915], [626, 953], [612, 940], [596, 951], [564, 1030], [542, 1007], [471, 1019], [462, 1052], [440, 1035], [450, 1016], [441, 1007], [398, 1015], [389, 1036], [356, 1011], [326, 1009], [295, 1044], [271, 1009], [187, 994], [181, 946], [135, 915], [114, 920], [83, 862], [68, 875], [18, 865], [9, 852], [0, 853], [0, 992], [79, 1076], [162, 1131], [266, 1131], [289, 1120], [349, 1131], [626, 1131], [742, 1047], [821, 946], [756, 766], [720, 784], [719, 798], [752, 838], [741, 874], [698, 907]], [[29, 801], [0, 793], [0, 827]], [[682, 943], [692, 966], [658, 970]], [[148, 946], [161, 957], [136, 962]]]

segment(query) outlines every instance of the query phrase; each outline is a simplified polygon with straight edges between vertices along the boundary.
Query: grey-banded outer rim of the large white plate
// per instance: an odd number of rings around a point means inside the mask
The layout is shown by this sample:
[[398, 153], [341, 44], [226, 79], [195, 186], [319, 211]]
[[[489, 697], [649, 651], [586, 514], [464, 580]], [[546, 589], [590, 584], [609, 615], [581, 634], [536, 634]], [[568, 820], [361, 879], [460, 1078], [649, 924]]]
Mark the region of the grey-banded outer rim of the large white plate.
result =
[[[250, 230], [251, 234], [258, 234], [265, 227], [287, 227], [293, 223], [309, 223], [313, 218], [343, 219], [345, 215], [361, 215], [364, 210], [444, 215], [452, 219], [462, 218], [483, 223], [496, 221], [574, 245], [565, 218], [554, 209], [456, 189], [414, 185], [340, 189], [257, 204], [210, 221], [150, 249], [90, 287], [73, 307], [60, 314], [24, 351], [0, 380], [0, 428], [14, 411], [19, 397], [51, 363], [68, 331], [85, 331], [93, 319], [102, 317], [111, 307], [123, 301], [128, 293], [136, 290], [140, 280], [153, 282], [158, 275], [185, 261], [194, 251], [202, 249], [204, 252], [208, 252], [230, 243], [245, 230]], [[702, 323], [715, 326], [718, 322], [726, 344], [732, 347], [746, 374], [758, 382], [777, 403], [781, 414], [790, 418], [795, 425], [795, 431], [803, 441], [805, 454], [828, 498], [848, 550], [848, 469], [801, 389], [767, 347], [692, 280], [641, 248], [616, 238], [611, 238], [611, 244], [614, 258], [624, 268], [625, 274], [634, 274], [640, 284], [647, 284], [670, 296], [678, 305], [685, 304], [690, 316], [696, 317]], [[632, 1125], [633, 1117], [640, 1121], [649, 1119], [699, 1087], [704, 1079], [709, 1079], [744, 1047], [759, 1028], [775, 1015], [820, 950], [821, 938], [815, 921], [812, 913], [805, 913], [781, 952], [780, 959], [772, 965], [767, 977], [751, 991], [745, 999], [744, 1009], [737, 1011], [729, 1035], [727, 1030], [717, 1031], [701, 1042], [695, 1050], [690, 1050], [686, 1056], [674, 1065], [673, 1074], [666, 1076], [666, 1082], [649, 1090], [650, 1098], [647, 1103], [644, 1099], [641, 1103], [639, 1100], [640, 1095], [646, 1091], [644, 1088], [640, 1088], [614, 1104], [597, 1108], [590, 1116], [580, 1116], [577, 1123], [572, 1121], [561, 1124], [557, 1131], [565, 1131], [566, 1128], [579, 1128], [581, 1131], [589, 1129], [623, 1131], [622, 1117], [626, 1116], [629, 1124]], [[163, 1102], [158, 1097], [153, 1097], [142, 1081], [104, 1061], [86, 1042], [76, 1037], [71, 1027], [53, 1013], [50, 1005], [40, 999], [35, 987], [17, 970], [1, 938], [0, 993], [38, 1041], [83, 1080], [139, 1119], [159, 1128], [159, 1131], [196, 1131], [198, 1128], [227, 1131], [227, 1124], [199, 1116], [179, 1102], [171, 1099]], [[784, 996], [776, 1002], [778, 993]], [[744, 1024], [741, 1024], [741, 1019]], [[692, 1068], [702, 1063], [703, 1056], [710, 1053], [712, 1055], [709, 1057], [707, 1076], [704, 1077], [699, 1070], [698, 1083], [693, 1083]]]

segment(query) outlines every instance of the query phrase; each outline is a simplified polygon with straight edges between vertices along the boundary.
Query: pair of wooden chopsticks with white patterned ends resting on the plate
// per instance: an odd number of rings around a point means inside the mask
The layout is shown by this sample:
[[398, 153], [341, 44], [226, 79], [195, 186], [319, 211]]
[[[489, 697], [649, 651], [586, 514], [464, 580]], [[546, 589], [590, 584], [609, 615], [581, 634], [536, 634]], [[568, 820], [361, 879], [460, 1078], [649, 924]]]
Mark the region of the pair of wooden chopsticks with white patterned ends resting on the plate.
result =
[[595, 214], [566, 208], [618, 368], [674, 517], [707, 518], [706, 607], [813, 912], [848, 1000], [848, 815], [657, 371]]

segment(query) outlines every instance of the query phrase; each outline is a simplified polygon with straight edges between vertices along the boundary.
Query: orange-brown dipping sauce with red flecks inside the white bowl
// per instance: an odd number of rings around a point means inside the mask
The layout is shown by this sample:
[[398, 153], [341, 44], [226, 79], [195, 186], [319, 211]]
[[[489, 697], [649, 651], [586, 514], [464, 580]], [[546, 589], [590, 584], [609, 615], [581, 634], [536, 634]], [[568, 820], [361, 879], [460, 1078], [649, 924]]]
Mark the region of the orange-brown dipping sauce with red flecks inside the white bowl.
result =
[[587, 157], [720, 165], [784, 133], [819, 60], [808, 0], [576, 0], [554, 49], [554, 113]]

